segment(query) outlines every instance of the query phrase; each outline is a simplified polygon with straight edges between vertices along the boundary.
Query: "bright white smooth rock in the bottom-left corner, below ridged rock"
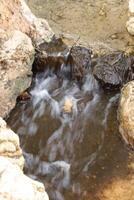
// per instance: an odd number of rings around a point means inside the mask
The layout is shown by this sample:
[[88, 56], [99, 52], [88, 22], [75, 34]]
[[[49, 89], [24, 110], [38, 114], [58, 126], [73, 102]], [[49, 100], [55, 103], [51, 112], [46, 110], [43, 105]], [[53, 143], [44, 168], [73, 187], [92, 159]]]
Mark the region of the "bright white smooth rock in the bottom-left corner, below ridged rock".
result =
[[23, 174], [17, 165], [0, 156], [0, 200], [48, 200], [42, 183]]

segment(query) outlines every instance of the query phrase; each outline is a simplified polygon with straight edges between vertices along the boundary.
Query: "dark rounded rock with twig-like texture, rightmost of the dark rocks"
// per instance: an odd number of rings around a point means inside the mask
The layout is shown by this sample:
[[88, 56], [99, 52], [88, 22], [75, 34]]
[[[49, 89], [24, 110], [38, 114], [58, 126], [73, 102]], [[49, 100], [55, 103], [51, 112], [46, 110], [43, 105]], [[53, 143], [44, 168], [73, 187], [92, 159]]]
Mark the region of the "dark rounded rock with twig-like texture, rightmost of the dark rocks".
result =
[[104, 89], [118, 89], [127, 80], [128, 63], [123, 53], [115, 52], [96, 59], [94, 77]]

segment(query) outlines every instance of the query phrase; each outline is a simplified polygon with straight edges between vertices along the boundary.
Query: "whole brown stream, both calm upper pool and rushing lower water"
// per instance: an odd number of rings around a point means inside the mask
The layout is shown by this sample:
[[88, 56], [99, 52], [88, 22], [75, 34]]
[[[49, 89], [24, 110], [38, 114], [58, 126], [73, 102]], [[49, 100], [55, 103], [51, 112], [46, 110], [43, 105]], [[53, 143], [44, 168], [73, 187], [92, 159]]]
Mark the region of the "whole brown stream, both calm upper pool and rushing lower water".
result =
[[[72, 34], [74, 41], [80, 36], [112, 44], [111, 49], [128, 43], [126, 0], [27, 3], [55, 32]], [[19, 135], [25, 174], [44, 183], [50, 200], [100, 200], [112, 181], [127, 177], [133, 154], [118, 130], [119, 91], [105, 92], [90, 69], [79, 87], [65, 77], [61, 82], [48, 66], [36, 74], [30, 95], [16, 104], [7, 123]]]

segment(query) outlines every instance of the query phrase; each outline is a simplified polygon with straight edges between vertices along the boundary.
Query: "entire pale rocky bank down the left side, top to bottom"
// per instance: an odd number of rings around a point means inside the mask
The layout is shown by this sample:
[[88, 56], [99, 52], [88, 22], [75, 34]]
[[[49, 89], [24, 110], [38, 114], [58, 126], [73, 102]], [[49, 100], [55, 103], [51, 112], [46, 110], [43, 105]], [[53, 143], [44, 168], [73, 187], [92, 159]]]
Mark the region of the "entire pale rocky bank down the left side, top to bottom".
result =
[[[36, 18], [25, 1], [0, 1], [0, 116], [15, 106], [18, 94], [30, 86], [35, 47], [54, 33]], [[24, 158], [18, 136], [0, 118], [0, 199], [48, 200], [43, 184], [23, 174]]]

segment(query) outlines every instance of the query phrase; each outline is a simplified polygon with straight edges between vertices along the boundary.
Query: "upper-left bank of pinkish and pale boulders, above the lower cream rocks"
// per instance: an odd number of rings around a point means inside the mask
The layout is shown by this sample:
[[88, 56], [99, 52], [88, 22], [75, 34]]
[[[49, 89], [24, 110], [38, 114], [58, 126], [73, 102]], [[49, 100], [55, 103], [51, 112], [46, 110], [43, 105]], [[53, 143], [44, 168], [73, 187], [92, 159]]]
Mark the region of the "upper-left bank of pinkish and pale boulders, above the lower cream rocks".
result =
[[46, 20], [36, 18], [25, 1], [0, 1], [0, 116], [8, 114], [20, 91], [30, 85], [34, 47], [53, 35]]

